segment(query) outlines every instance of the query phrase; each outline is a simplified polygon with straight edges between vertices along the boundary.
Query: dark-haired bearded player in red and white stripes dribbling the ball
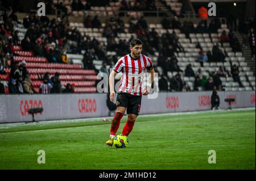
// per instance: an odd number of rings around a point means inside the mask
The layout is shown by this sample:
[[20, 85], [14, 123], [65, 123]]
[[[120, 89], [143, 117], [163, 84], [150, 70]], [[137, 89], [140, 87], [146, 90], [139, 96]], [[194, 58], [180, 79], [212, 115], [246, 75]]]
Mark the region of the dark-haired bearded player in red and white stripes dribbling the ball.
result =
[[[131, 53], [120, 58], [115, 64], [114, 70], [109, 75], [110, 100], [114, 100], [114, 77], [122, 72], [121, 83], [117, 94], [117, 110], [110, 128], [110, 138], [106, 145], [112, 146], [115, 133], [119, 128], [120, 121], [127, 109], [127, 122], [123, 127], [122, 135], [129, 136], [139, 111], [141, 109], [142, 95], [148, 95], [151, 84], [154, 81], [154, 67], [150, 58], [141, 54], [142, 41], [133, 39], [130, 42]], [[145, 83], [146, 70], [150, 72], [150, 79]]]

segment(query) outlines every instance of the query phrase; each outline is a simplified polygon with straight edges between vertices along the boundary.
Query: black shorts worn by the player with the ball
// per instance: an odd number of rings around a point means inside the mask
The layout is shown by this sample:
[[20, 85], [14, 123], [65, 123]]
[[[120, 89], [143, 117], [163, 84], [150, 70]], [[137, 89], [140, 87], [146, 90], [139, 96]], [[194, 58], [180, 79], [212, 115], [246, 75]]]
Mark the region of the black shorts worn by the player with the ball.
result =
[[125, 107], [127, 114], [132, 113], [138, 116], [141, 110], [141, 98], [142, 96], [119, 92], [117, 94], [117, 107]]

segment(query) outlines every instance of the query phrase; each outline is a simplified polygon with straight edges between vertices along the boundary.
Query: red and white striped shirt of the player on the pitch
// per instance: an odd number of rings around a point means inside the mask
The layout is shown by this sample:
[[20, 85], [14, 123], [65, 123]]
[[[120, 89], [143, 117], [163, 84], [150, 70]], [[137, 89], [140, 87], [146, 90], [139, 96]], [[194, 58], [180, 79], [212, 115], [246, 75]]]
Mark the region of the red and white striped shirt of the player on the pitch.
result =
[[122, 72], [118, 91], [127, 92], [131, 95], [142, 95], [142, 91], [146, 87], [146, 69], [153, 69], [153, 65], [150, 58], [144, 54], [141, 54], [137, 60], [134, 60], [130, 54], [120, 58], [114, 68], [115, 72]]

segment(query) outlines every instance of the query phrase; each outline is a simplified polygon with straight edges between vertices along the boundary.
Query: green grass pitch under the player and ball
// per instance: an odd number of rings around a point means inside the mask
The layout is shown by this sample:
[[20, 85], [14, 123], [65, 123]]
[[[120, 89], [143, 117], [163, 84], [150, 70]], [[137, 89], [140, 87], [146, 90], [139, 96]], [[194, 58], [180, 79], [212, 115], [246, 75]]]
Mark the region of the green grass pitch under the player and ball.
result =
[[125, 149], [105, 145], [109, 129], [100, 119], [0, 124], [0, 169], [255, 169], [255, 108], [139, 116]]

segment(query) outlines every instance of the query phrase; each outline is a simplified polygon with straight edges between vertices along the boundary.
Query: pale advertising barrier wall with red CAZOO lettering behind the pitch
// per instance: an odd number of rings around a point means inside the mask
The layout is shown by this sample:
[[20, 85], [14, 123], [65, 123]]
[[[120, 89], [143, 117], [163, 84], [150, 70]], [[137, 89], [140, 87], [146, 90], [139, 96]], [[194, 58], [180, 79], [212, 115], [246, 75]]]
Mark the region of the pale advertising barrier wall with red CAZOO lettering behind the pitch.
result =
[[[143, 96], [140, 115], [151, 113], [210, 110], [211, 91], [159, 92], [157, 99]], [[220, 108], [228, 109], [226, 98], [234, 98], [232, 108], [255, 107], [255, 91], [219, 91]], [[115, 95], [117, 96], [117, 95]], [[43, 107], [36, 121], [104, 117], [109, 115], [106, 94], [0, 95], [0, 123], [32, 121], [29, 108]]]

